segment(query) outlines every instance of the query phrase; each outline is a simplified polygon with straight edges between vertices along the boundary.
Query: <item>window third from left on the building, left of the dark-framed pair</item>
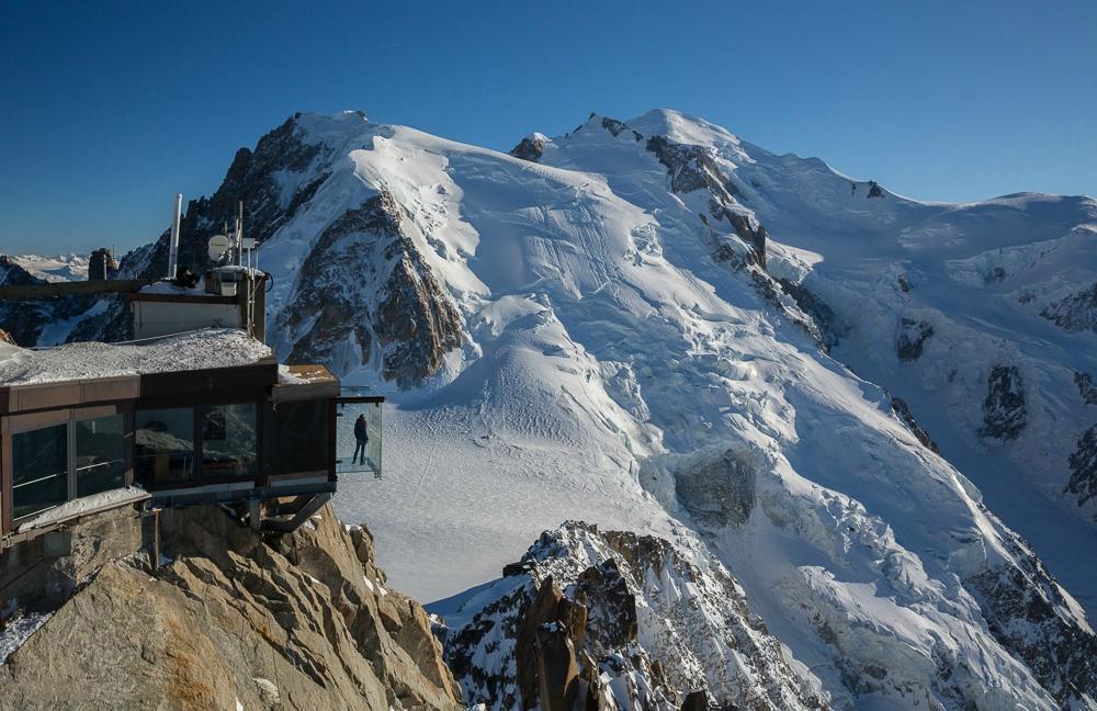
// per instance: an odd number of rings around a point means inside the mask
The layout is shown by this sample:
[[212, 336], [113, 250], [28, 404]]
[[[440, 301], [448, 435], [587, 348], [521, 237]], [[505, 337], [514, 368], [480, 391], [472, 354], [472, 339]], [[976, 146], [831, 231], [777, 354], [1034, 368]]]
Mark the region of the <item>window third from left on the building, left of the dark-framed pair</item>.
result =
[[134, 474], [143, 484], [185, 482], [194, 475], [194, 410], [137, 410]]

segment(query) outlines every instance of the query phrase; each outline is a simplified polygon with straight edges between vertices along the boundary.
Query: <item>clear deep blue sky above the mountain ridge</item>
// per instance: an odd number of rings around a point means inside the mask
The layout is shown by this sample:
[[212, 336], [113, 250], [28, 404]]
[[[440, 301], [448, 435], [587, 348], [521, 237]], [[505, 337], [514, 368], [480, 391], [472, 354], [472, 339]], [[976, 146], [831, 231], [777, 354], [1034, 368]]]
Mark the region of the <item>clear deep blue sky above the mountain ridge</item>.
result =
[[1097, 2], [0, 4], [0, 251], [120, 251], [295, 111], [509, 149], [670, 106], [915, 198], [1097, 194]]

